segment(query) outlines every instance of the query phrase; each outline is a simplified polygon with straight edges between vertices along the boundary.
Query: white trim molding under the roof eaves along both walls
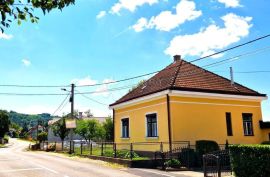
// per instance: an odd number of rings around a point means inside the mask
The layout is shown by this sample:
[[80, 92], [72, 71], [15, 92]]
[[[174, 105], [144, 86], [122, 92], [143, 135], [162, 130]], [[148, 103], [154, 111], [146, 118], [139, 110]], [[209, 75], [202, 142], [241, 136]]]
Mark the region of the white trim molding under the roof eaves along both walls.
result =
[[180, 91], [180, 90], [164, 90], [161, 92], [146, 95], [140, 98], [136, 98], [130, 101], [110, 106], [110, 109], [117, 109], [128, 107], [130, 105], [141, 104], [143, 102], [149, 102], [165, 97], [167, 94], [170, 96], [191, 97], [191, 98], [210, 98], [210, 99], [222, 99], [222, 100], [238, 100], [238, 101], [255, 101], [261, 102], [267, 100], [267, 96], [246, 96], [246, 95], [233, 95], [233, 94], [220, 94], [220, 93], [206, 93], [206, 92], [193, 92], [193, 91]]

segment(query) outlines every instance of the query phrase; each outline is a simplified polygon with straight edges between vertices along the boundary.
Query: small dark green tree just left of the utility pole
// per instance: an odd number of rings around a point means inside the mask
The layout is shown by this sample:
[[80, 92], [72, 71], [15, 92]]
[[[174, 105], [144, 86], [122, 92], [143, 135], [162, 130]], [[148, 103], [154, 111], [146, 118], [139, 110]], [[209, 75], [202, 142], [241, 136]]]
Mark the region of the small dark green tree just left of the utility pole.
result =
[[60, 137], [62, 141], [68, 136], [69, 134], [69, 129], [66, 128], [66, 120], [65, 117], [60, 119], [58, 122], [56, 122], [52, 126], [53, 134], [54, 136]]

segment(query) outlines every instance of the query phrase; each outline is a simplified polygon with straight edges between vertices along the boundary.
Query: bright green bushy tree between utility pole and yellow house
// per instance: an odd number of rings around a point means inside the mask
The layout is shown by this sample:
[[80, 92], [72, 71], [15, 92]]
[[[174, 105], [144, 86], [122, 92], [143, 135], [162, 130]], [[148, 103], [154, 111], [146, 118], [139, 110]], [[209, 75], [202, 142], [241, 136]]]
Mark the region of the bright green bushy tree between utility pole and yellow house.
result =
[[104, 129], [97, 120], [79, 120], [75, 132], [87, 142], [104, 138]]

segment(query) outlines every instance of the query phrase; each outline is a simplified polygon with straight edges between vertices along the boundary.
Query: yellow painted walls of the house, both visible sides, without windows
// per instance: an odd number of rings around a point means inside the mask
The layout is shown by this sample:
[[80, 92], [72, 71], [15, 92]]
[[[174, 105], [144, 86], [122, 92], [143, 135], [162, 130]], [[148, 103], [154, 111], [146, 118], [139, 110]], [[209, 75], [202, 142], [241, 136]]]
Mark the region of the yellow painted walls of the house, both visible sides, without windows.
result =
[[[255, 144], [268, 140], [268, 130], [261, 130], [261, 103], [206, 98], [170, 96], [172, 141], [214, 140], [219, 144]], [[233, 136], [227, 136], [226, 112], [231, 112]], [[146, 114], [157, 113], [158, 138], [146, 138]], [[242, 113], [253, 114], [254, 136], [244, 136]], [[121, 119], [129, 118], [130, 138], [121, 138]], [[269, 132], [270, 133], [270, 132]], [[115, 109], [115, 142], [168, 142], [166, 97]], [[128, 149], [128, 145], [121, 149]], [[160, 144], [134, 145], [134, 150], [159, 150]], [[168, 144], [164, 145], [164, 150]]]

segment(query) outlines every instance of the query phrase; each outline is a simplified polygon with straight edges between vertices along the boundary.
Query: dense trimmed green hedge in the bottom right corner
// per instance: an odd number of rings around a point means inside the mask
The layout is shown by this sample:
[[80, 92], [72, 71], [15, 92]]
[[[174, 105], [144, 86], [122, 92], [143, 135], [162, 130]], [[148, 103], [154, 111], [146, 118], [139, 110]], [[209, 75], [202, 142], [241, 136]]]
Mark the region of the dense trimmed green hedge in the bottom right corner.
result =
[[236, 177], [270, 177], [270, 145], [229, 146]]

